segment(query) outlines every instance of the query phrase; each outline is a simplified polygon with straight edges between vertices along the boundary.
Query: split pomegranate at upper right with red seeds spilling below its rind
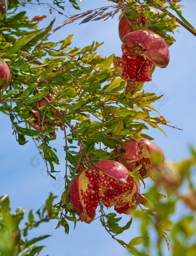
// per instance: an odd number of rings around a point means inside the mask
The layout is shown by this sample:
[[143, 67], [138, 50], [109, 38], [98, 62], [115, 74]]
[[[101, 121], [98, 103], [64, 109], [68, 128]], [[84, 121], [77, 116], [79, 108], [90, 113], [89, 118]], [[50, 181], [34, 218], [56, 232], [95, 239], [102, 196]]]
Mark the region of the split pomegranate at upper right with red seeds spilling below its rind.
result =
[[127, 81], [126, 93], [133, 94], [137, 83], [151, 81], [155, 66], [165, 68], [169, 63], [165, 40], [146, 29], [127, 34], [122, 52], [122, 58], [114, 57], [114, 66], [118, 75]]

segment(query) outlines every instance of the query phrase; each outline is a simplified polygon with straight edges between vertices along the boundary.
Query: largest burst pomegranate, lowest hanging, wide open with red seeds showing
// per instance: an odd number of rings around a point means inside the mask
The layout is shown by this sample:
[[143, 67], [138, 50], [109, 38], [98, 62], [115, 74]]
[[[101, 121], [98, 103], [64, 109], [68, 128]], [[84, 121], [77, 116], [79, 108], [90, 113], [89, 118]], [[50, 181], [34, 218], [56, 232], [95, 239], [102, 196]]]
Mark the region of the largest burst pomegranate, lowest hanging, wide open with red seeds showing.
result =
[[138, 203], [144, 203], [144, 197], [124, 165], [101, 160], [78, 173], [70, 186], [70, 202], [80, 220], [91, 223], [100, 202], [106, 207], [114, 205], [118, 213], [130, 214]]

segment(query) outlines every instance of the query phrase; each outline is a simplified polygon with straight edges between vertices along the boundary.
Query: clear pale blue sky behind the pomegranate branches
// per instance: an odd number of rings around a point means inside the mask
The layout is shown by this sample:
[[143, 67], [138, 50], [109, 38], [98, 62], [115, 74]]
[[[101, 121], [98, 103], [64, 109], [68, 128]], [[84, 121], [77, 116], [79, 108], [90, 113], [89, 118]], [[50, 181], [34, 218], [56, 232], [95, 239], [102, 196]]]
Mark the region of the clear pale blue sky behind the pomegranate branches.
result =
[[[196, 27], [194, 0], [182, 0], [180, 2], [185, 6], [183, 16]], [[112, 2], [106, 0], [90, 1], [81, 3], [81, 11], [95, 9], [101, 6], [112, 5]], [[28, 5], [27, 14], [29, 17], [43, 15], [44, 7]], [[77, 13], [76, 10], [69, 10], [70, 14]], [[51, 14], [44, 13], [48, 17], [40, 23], [40, 27], [46, 27], [51, 20]], [[53, 14], [52, 14], [53, 15]], [[64, 16], [60, 14], [56, 17], [55, 25], [63, 22]], [[79, 22], [66, 25], [55, 32], [49, 39], [65, 39], [69, 34], [74, 34], [73, 46], [84, 47], [92, 43], [93, 40], [104, 42], [98, 52], [106, 57], [115, 53], [120, 56], [121, 42], [118, 36], [118, 15], [112, 20], [93, 21], [88, 24], [78, 25]], [[154, 107], [159, 110], [160, 115], [166, 120], [171, 121], [171, 125], [182, 128], [183, 131], [170, 127], [161, 127], [167, 136], [157, 129], [150, 128], [148, 134], [154, 138], [154, 142], [164, 151], [167, 161], [178, 161], [183, 157], [189, 156], [189, 144], [196, 146], [195, 138], [195, 37], [184, 28], [178, 28], [174, 37], [176, 43], [169, 47], [170, 62], [167, 68], [156, 68], [153, 73], [153, 84], [156, 92], [164, 92], [167, 101], [154, 103]], [[144, 87], [145, 88], [145, 87]], [[145, 90], [152, 90], [147, 88]], [[156, 113], [154, 113], [156, 115]], [[27, 212], [30, 209], [39, 209], [46, 200], [49, 192], [61, 196], [63, 192], [63, 177], [65, 172], [65, 153], [63, 151], [63, 133], [58, 133], [58, 139], [54, 146], [58, 149], [60, 166], [56, 170], [62, 170], [59, 176], [59, 183], [46, 175], [44, 162], [37, 154], [37, 149], [31, 138], [24, 146], [16, 143], [12, 135], [12, 124], [9, 116], [0, 113], [1, 118], [1, 185], [0, 195], [8, 194], [10, 196], [11, 206], [16, 210], [18, 206], [24, 206]], [[129, 216], [122, 216], [123, 222], [129, 221]], [[178, 214], [176, 215], [178, 217]], [[78, 222], [73, 230], [70, 225], [69, 235], [65, 235], [63, 228], [54, 229], [57, 221], [51, 221], [50, 224], [42, 224], [34, 231], [30, 231], [31, 236], [52, 234], [51, 238], [43, 240], [41, 244], [47, 247], [40, 255], [57, 256], [98, 256], [98, 255], [127, 255], [126, 250], [113, 240], [110, 235], [101, 226], [100, 221], [96, 220], [91, 225], [84, 222]], [[131, 228], [119, 236], [119, 239], [129, 242], [138, 235], [137, 221], [133, 221]], [[165, 252], [165, 255], [170, 255]]]

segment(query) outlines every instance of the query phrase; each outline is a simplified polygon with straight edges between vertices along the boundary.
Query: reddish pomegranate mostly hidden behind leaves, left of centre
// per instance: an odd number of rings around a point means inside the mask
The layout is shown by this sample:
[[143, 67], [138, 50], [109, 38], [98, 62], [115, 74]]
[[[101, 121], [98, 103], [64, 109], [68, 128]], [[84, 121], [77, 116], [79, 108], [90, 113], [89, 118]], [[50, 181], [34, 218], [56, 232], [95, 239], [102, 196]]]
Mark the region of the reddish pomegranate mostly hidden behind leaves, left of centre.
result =
[[[48, 101], [52, 101], [55, 99], [55, 95], [56, 95], [56, 92], [53, 92], [53, 95], [54, 96], [51, 96], [51, 95], [46, 95], [46, 98], [48, 99]], [[42, 99], [40, 99], [40, 101], [38, 101], [38, 106], [39, 107], [42, 107], [42, 106], [47, 106], [47, 103], [44, 102]], [[58, 117], [58, 118], [61, 118], [59, 116], [58, 113], [56, 113], [55, 111], [52, 111], [52, 113]], [[37, 110], [37, 103], [36, 103], [36, 109], [34, 111], [30, 110], [29, 111], [29, 114], [35, 118], [35, 121], [30, 121], [29, 124], [31, 125], [31, 127], [33, 127], [34, 129], [36, 129], [37, 131], [40, 131], [42, 129], [42, 118], [40, 117], [40, 124], [39, 124], [39, 110]], [[50, 125], [51, 127], [55, 127], [56, 125], [57, 126], [60, 126], [62, 128], [62, 123], [59, 121], [57, 124], [52, 124], [52, 123], [49, 123], [48, 121], [44, 120], [44, 124], [48, 124]], [[44, 127], [43, 125], [43, 131], [46, 130], [46, 127]]]

